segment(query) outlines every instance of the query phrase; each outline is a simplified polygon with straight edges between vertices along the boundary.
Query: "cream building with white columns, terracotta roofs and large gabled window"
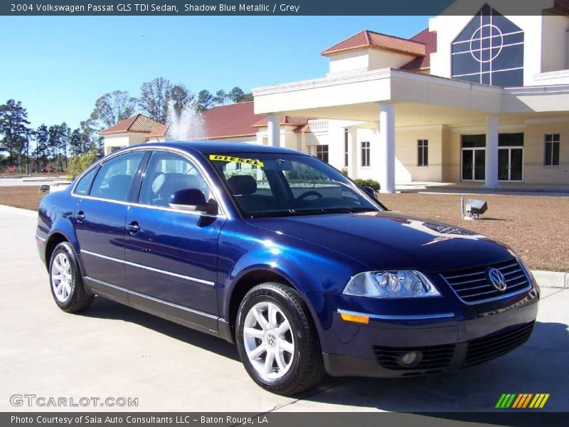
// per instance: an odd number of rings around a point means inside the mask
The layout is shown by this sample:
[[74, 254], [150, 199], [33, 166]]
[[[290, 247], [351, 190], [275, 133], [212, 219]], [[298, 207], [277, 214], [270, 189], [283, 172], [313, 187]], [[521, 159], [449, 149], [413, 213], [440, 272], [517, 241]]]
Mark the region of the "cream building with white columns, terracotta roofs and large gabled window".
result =
[[566, 2], [504, 16], [499, 0], [464, 1], [468, 16], [451, 6], [410, 39], [341, 41], [321, 53], [326, 76], [253, 90], [255, 117], [267, 116], [254, 130], [204, 137], [302, 149], [387, 192], [396, 181], [569, 185]]

